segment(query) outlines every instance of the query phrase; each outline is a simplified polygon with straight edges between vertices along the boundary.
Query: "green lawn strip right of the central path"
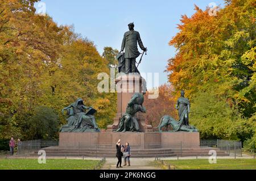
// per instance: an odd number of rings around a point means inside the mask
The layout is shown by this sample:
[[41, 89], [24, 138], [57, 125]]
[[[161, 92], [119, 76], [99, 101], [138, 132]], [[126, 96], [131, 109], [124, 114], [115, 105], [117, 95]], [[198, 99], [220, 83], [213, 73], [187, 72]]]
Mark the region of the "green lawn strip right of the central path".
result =
[[217, 159], [210, 164], [208, 159], [168, 160], [177, 170], [256, 170], [256, 159]]

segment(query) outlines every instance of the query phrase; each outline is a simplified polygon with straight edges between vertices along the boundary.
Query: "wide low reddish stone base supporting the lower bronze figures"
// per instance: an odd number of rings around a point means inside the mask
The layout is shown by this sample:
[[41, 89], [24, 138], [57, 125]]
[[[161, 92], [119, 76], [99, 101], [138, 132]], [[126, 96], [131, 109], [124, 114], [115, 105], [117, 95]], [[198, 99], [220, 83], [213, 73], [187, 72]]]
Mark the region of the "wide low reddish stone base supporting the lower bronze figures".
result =
[[148, 133], [60, 133], [60, 146], [104, 146], [106, 149], [115, 148], [121, 139], [122, 144], [129, 142], [135, 149], [172, 148], [177, 144], [200, 146], [199, 132], [148, 132]]

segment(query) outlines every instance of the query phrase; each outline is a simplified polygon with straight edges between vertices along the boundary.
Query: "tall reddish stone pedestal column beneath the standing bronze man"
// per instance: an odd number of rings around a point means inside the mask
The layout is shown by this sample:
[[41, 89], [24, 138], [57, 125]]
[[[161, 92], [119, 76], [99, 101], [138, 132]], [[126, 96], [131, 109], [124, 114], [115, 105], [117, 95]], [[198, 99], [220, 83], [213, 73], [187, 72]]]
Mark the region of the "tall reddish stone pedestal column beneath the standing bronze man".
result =
[[[117, 130], [122, 115], [126, 112], [127, 104], [135, 93], [146, 92], [146, 82], [138, 74], [122, 75], [115, 79], [117, 87], [117, 114], [114, 118], [113, 125], [109, 125], [107, 132]], [[137, 113], [136, 118], [142, 132], [152, 132], [152, 126], [146, 124], [143, 113]]]

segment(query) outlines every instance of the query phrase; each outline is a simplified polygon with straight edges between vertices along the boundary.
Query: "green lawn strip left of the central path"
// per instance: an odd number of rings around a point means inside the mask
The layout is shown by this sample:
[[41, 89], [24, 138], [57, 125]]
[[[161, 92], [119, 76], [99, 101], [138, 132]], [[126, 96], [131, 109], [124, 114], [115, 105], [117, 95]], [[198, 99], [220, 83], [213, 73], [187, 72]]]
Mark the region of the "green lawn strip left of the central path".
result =
[[73, 159], [46, 159], [39, 164], [37, 159], [1, 159], [0, 170], [92, 170], [98, 161]]

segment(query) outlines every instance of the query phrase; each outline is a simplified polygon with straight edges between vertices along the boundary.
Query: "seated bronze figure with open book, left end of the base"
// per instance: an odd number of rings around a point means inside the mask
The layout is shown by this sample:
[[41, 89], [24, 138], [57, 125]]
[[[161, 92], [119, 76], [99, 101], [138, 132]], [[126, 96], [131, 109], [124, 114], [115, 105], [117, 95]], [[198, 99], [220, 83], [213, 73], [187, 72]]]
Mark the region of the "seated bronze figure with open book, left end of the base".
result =
[[[61, 110], [62, 113], [67, 110], [68, 124], [64, 125], [60, 132], [100, 132], [96, 123], [94, 113], [97, 111], [92, 107], [84, 106], [82, 99], [77, 99], [75, 103]], [[84, 110], [88, 110], [85, 113]]]

